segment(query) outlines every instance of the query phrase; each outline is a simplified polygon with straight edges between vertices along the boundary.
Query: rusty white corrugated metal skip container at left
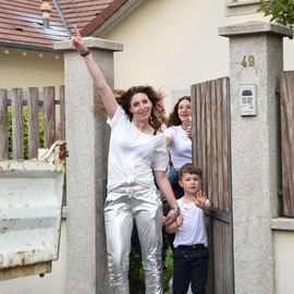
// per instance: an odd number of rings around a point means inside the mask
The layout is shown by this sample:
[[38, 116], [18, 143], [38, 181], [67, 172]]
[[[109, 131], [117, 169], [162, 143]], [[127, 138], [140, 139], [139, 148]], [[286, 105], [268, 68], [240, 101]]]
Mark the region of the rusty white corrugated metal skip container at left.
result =
[[0, 270], [22, 277], [19, 267], [58, 259], [64, 146], [56, 144], [42, 160], [0, 161]]

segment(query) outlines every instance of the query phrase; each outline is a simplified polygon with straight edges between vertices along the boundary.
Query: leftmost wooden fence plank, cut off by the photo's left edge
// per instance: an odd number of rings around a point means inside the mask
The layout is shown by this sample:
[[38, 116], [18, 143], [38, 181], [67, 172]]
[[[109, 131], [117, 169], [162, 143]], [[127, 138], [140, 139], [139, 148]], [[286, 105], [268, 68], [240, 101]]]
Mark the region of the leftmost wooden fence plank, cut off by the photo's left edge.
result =
[[9, 158], [8, 90], [0, 89], [0, 159]]

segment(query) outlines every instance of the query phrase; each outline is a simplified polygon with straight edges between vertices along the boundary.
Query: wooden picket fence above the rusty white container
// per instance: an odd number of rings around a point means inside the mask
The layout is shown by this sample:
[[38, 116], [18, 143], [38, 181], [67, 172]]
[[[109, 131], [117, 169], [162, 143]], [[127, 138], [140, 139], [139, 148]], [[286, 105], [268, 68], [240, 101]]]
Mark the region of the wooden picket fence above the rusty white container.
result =
[[[60, 105], [59, 139], [65, 139], [64, 86], [60, 86], [60, 99], [56, 100], [56, 88], [44, 87], [44, 99], [39, 89], [29, 87], [27, 99], [23, 88], [0, 89], [0, 159], [9, 159], [9, 140], [12, 140], [13, 159], [24, 159], [24, 106], [27, 106], [28, 159], [37, 158], [40, 143], [39, 118], [44, 117], [44, 148], [49, 148], [57, 136], [56, 105]], [[12, 137], [9, 135], [9, 106], [12, 113]], [[42, 107], [40, 107], [42, 106]], [[41, 110], [42, 109], [42, 110]]]

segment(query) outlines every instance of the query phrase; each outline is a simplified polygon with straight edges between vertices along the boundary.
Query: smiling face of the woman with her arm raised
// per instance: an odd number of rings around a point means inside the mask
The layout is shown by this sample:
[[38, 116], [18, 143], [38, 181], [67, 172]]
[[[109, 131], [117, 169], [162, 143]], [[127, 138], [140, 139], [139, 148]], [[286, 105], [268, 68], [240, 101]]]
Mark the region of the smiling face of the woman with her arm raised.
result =
[[151, 115], [152, 102], [145, 93], [137, 93], [131, 99], [130, 111], [133, 113], [133, 120], [145, 121]]

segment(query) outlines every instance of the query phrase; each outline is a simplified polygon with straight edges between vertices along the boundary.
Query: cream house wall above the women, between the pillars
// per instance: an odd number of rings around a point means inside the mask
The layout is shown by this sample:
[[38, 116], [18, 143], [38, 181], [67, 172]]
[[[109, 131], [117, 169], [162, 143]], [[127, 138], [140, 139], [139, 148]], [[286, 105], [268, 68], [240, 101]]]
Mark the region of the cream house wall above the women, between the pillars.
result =
[[[146, 0], [103, 38], [122, 42], [114, 54], [118, 88], [150, 84], [166, 93], [168, 110], [172, 91], [229, 75], [229, 41], [218, 27], [256, 20], [262, 13], [225, 16], [225, 0]], [[294, 69], [294, 41], [285, 40], [285, 70]]]

